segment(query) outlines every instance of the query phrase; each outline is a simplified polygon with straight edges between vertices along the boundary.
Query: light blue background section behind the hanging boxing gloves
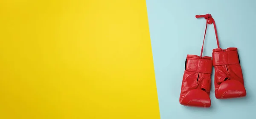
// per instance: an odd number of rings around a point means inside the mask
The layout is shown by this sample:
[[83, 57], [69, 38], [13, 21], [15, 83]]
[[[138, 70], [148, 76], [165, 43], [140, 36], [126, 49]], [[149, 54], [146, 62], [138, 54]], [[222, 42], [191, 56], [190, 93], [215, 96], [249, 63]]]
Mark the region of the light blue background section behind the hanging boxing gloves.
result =
[[[161, 119], [254, 119], [256, 113], [256, 0], [146, 0]], [[247, 97], [217, 100], [212, 72], [211, 108], [180, 105], [187, 54], [200, 55], [206, 20], [212, 14], [220, 46], [238, 47]], [[205, 56], [217, 48], [208, 25]]]

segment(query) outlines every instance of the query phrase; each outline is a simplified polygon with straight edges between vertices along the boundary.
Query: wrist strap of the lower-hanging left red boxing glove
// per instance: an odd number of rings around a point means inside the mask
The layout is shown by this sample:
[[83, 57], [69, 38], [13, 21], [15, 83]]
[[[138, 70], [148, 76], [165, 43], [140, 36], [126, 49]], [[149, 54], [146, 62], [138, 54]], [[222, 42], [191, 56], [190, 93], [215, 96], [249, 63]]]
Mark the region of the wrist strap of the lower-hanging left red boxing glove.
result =
[[186, 70], [212, 74], [212, 60], [187, 58]]

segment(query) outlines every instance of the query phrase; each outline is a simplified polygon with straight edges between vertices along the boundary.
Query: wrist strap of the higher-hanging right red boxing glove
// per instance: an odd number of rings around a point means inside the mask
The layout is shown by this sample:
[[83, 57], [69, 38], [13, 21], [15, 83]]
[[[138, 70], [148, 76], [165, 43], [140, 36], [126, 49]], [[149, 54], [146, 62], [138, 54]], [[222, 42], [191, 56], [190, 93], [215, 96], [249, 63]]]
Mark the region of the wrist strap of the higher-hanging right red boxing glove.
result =
[[238, 53], [237, 51], [213, 52], [212, 64], [213, 66], [239, 64]]

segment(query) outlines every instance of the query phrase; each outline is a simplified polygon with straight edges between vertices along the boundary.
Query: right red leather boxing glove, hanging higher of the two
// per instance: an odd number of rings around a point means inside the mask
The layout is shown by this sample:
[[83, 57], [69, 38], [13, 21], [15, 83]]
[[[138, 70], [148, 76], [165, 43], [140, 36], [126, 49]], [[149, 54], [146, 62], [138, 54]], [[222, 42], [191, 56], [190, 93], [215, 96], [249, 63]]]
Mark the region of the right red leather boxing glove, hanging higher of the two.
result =
[[217, 99], [246, 96], [244, 79], [236, 47], [213, 49], [214, 86]]

